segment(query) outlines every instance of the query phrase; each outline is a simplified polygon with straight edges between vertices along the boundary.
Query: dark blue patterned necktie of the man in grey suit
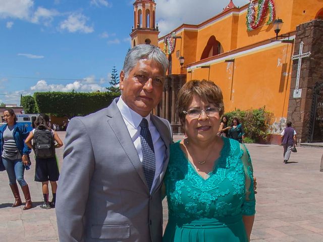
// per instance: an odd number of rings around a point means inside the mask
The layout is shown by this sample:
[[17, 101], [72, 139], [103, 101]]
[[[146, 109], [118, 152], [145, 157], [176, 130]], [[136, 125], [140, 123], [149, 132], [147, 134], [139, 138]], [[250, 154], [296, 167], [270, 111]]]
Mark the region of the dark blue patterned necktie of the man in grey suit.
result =
[[155, 151], [152, 144], [150, 131], [148, 129], [148, 121], [143, 118], [140, 123], [140, 143], [142, 150], [142, 167], [143, 173], [145, 174], [149, 191], [153, 183], [155, 176], [156, 159]]

